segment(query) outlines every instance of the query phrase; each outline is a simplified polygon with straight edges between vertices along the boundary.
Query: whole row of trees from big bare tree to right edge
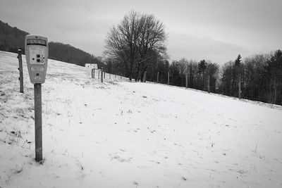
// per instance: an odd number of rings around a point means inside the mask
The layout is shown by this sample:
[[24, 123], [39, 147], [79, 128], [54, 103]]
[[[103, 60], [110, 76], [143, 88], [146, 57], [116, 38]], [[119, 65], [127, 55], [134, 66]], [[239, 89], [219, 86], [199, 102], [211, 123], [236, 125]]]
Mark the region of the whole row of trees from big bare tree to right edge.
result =
[[[181, 58], [168, 62], [164, 25], [154, 15], [130, 11], [106, 37], [109, 73], [282, 105], [282, 52], [259, 54], [219, 66]], [[159, 76], [159, 77], [157, 77]], [[186, 83], [187, 82], [187, 83]], [[187, 85], [186, 85], [187, 84]]]

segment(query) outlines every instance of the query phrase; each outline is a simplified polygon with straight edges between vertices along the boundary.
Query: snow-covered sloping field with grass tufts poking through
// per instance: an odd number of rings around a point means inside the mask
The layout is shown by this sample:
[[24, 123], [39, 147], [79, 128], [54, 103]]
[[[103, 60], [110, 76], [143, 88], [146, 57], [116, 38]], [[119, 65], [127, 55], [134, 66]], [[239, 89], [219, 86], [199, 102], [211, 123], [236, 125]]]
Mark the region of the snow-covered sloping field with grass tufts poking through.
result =
[[[49, 60], [43, 156], [33, 85], [0, 51], [0, 187], [282, 187], [282, 110]], [[95, 75], [97, 78], [97, 74]], [[270, 108], [272, 107], [272, 108]]]

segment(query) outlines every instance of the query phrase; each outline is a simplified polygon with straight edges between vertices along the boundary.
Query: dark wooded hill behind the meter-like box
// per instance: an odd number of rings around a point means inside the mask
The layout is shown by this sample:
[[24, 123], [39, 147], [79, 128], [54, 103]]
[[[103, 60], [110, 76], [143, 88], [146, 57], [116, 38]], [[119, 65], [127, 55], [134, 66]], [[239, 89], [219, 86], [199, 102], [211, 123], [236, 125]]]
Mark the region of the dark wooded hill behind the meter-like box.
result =
[[[0, 50], [17, 53], [20, 48], [24, 54], [25, 35], [28, 34], [28, 32], [11, 27], [8, 23], [3, 23], [0, 20]], [[100, 58], [60, 42], [49, 42], [49, 58], [81, 66], [84, 66], [85, 63], [97, 63], [100, 68], [102, 65]]]

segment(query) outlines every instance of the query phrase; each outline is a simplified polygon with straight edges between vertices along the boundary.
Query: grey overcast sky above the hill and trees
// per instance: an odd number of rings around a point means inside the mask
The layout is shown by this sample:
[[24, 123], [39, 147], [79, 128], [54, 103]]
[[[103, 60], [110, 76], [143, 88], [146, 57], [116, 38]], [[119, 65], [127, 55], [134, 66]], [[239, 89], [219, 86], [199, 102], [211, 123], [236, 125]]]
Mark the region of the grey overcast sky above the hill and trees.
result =
[[0, 0], [0, 20], [102, 56], [110, 27], [131, 10], [165, 25], [171, 60], [223, 64], [282, 49], [282, 0]]

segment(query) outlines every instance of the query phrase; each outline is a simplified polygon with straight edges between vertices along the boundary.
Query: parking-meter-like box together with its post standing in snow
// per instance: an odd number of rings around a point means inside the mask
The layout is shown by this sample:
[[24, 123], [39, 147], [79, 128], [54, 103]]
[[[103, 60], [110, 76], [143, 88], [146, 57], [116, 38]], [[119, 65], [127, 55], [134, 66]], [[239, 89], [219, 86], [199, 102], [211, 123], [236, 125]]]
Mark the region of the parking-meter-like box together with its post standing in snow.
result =
[[30, 82], [35, 92], [35, 161], [42, 157], [42, 89], [45, 82], [48, 63], [48, 40], [39, 35], [25, 36], [25, 57]]

